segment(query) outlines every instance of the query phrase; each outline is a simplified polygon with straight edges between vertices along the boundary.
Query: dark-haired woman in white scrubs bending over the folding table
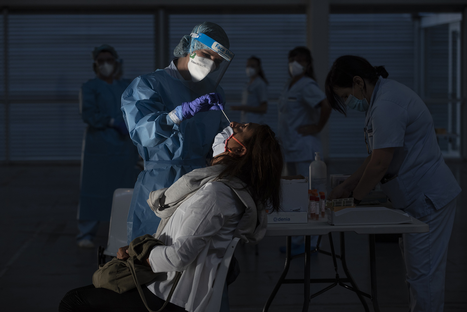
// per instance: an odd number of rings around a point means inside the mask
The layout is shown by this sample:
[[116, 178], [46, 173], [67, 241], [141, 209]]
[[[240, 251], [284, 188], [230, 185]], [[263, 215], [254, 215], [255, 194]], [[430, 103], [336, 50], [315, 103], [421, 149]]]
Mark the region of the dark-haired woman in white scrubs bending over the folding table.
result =
[[410, 88], [386, 79], [383, 66], [363, 57], [336, 59], [326, 83], [330, 105], [365, 112], [370, 154], [337, 186], [330, 199], [353, 197], [357, 204], [381, 181], [396, 209], [430, 226], [429, 233], [403, 234], [400, 246], [407, 269], [411, 312], [441, 312], [447, 246], [460, 187], [444, 162], [425, 103]]

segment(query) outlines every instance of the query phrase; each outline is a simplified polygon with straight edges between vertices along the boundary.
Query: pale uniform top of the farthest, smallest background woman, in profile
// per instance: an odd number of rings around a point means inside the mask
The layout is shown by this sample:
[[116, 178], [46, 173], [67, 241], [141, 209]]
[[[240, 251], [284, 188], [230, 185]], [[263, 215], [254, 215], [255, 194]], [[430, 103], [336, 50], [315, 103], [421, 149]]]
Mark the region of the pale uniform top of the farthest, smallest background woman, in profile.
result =
[[[268, 101], [268, 91], [266, 82], [261, 77], [247, 82], [241, 94], [241, 105], [258, 107], [262, 102]], [[264, 123], [264, 114], [241, 112], [241, 122]]]

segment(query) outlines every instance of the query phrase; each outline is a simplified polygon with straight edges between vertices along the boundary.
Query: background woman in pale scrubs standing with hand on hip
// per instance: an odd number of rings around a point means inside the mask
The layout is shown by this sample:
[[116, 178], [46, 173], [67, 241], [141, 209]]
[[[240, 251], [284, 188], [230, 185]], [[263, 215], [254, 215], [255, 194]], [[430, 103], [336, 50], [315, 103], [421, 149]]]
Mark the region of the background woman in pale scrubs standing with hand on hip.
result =
[[[286, 175], [308, 177], [315, 152], [323, 155], [319, 132], [329, 119], [331, 107], [316, 83], [308, 48], [297, 47], [289, 52], [289, 74], [279, 99], [278, 132], [284, 148]], [[317, 242], [318, 236], [312, 236], [311, 246]], [[293, 236], [291, 254], [304, 251], [304, 236]], [[281, 252], [285, 252], [285, 246]]]

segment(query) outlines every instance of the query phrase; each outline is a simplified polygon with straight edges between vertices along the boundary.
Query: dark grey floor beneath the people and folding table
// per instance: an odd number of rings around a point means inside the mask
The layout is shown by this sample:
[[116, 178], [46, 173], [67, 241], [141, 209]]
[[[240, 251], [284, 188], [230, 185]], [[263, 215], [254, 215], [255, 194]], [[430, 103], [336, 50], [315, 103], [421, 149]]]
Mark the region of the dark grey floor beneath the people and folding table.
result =
[[[351, 172], [358, 162], [334, 161], [328, 173]], [[467, 311], [466, 211], [462, 202], [467, 194], [467, 163], [449, 163], [465, 189], [458, 199], [456, 221], [449, 246], [446, 273], [445, 311]], [[78, 166], [0, 167], [0, 232], [4, 237], [0, 257], [1, 311], [57, 311], [64, 293], [91, 284], [96, 269], [96, 250], [76, 247], [76, 208], [78, 205]], [[105, 244], [108, 223], [102, 224], [97, 238]], [[337, 234], [334, 241], [338, 241]], [[229, 287], [232, 312], [262, 311], [282, 269], [284, 255], [279, 246], [283, 237], [267, 237], [259, 244], [259, 255], [252, 246], [239, 245], [235, 251], [242, 273]], [[329, 250], [328, 240], [322, 246]], [[363, 291], [369, 290], [368, 236], [346, 234], [348, 267]], [[396, 242], [376, 244], [378, 298], [381, 311], [407, 312], [402, 257]], [[313, 277], [333, 277], [332, 258], [312, 257]], [[303, 274], [303, 258], [295, 259], [289, 277]], [[342, 274], [341, 274], [342, 275]], [[312, 284], [318, 291], [325, 284]], [[283, 285], [269, 311], [301, 311], [303, 287]], [[310, 311], [364, 311], [357, 296], [335, 287], [311, 300]], [[370, 311], [372, 309], [370, 308]]]

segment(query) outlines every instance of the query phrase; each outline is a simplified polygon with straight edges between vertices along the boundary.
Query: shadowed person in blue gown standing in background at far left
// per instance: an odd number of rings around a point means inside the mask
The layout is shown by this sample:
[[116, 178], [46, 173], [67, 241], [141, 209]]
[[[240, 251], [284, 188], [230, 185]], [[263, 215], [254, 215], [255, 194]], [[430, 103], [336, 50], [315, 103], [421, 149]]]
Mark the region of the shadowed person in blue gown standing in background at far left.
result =
[[130, 80], [120, 79], [121, 61], [109, 45], [92, 51], [96, 78], [80, 90], [80, 112], [87, 124], [81, 158], [78, 246], [92, 248], [99, 221], [109, 221], [113, 191], [134, 186], [138, 151], [120, 110]]

